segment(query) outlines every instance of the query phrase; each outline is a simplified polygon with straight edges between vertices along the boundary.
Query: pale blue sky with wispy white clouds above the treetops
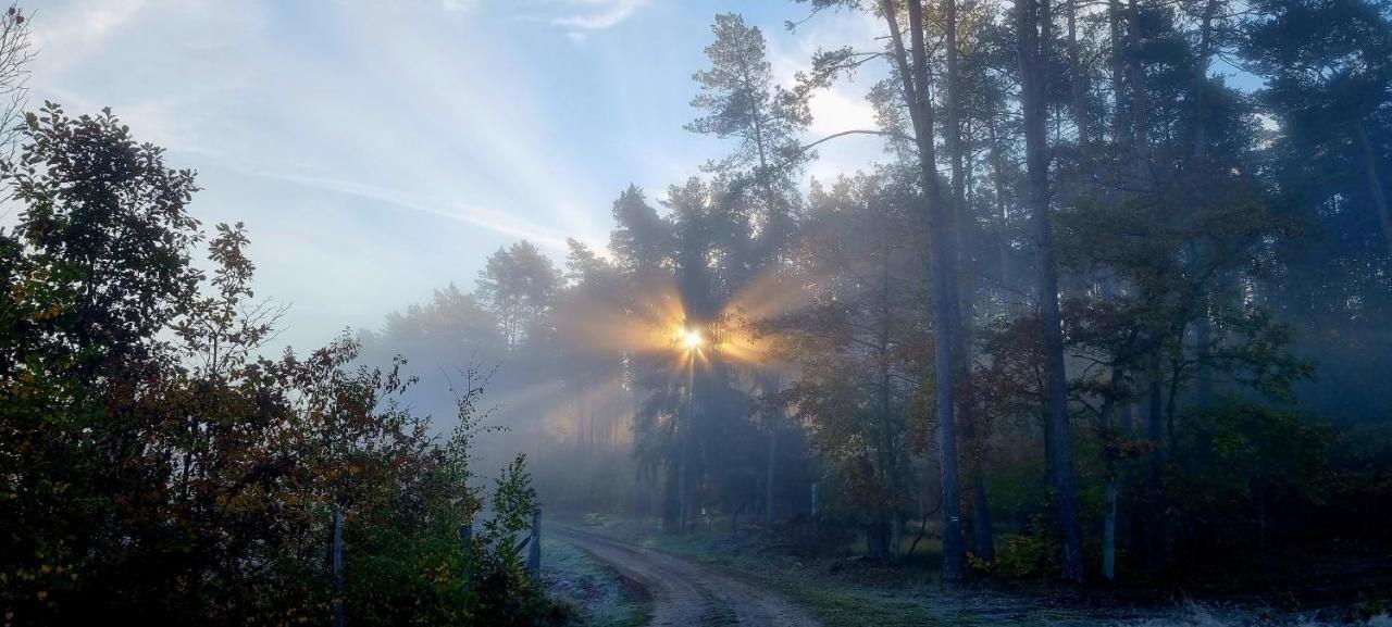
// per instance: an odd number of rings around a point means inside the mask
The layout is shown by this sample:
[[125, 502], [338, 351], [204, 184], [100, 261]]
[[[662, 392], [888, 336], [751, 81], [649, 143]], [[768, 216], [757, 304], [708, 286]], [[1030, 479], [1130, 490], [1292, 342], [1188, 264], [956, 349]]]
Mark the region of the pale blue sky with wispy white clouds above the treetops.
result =
[[[198, 171], [191, 213], [242, 221], [270, 346], [317, 348], [528, 239], [601, 247], [631, 182], [660, 197], [729, 149], [686, 132], [717, 13], [768, 38], [791, 81], [818, 47], [874, 46], [862, 14], [782, 0], [47, 0], [29, 7], [31, 107], [113, 111]], [[809, 140], [873, 128], [862, 75], [821, 93]], [[881, 160], [824, 145], [809, 175]], [[13, 220], [13, 215], [10, 217]]]

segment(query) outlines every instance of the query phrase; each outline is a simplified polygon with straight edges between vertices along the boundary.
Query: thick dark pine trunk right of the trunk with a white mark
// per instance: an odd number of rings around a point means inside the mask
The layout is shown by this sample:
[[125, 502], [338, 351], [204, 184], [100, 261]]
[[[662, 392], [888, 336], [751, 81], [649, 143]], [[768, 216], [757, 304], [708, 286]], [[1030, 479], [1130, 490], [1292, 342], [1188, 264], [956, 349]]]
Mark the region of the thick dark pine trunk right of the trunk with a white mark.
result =
[[1050, 58], [1050, 0], [1016, 0], [1019, 19], [1020, 101], [1025, 113], [1030, 225], [1038, 256], [1040, 321], [1044, 327], [1044, 417], [1063, 541], [1063, 578], [1082, 583], [1083, 548], [1077, 526], [1077, 485], [1073, 475], [1073, 434], [1068, 418], [1068, 375], [1063, 366], [1063, 328], [1058, 306], [1058, 267], [1050, 232], [1047, 93]]

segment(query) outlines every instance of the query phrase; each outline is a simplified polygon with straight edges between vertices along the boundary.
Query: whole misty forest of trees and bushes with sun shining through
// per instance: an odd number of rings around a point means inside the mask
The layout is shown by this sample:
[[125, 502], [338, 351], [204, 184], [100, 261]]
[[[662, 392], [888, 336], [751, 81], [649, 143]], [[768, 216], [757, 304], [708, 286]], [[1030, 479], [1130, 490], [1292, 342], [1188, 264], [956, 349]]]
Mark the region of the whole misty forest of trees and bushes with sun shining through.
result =
[[[967, 595], [1392, 608], [1392, 4], [778, 13], [878, 33], [781, 82], [770, 25], [690, 25], [672, 131], [722, 152], [589, 207], [607, 245], [519, 238], [277, 355], [276, 225], [28, 103], [10, 8], [4, 623], [593, 624], [528, 570], [537, 512]], [[848, 81], [877, 124], [813, 133]]]

